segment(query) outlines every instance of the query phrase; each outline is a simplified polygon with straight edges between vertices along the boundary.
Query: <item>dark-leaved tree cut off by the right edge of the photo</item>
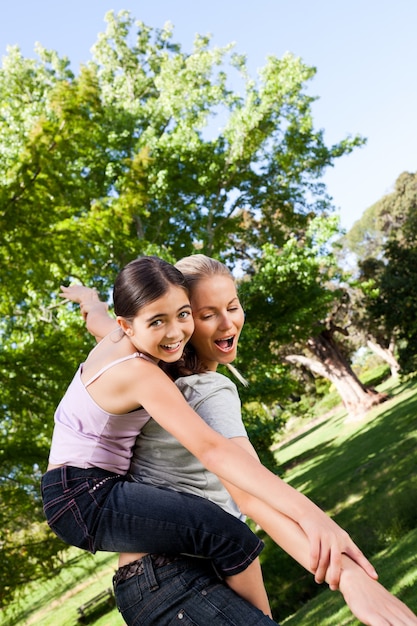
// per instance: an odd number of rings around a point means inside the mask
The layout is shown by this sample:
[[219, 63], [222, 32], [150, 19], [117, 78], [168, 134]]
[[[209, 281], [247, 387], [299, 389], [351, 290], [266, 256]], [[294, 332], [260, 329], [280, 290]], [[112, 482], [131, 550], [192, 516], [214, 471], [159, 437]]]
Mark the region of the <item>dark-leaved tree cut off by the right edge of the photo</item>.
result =
[[[395, 189], [368, 209], [344, 243], [358, 257], [356, 326], [396, 375], [414, 371], [417, 175], [403, 172]], [[373, 240], [372, 245], [369, 242]]]

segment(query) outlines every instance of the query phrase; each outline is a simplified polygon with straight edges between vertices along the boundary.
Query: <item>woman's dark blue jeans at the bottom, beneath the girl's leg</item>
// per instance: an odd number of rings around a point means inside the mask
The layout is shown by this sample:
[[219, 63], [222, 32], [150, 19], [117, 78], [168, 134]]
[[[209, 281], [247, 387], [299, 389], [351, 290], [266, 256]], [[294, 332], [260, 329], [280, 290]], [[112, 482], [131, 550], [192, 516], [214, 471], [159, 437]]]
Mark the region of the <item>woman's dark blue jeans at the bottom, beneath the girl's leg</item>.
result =
[[276, 622], [236, 595], [216, 576], [210, 561], [182, 557], [114, 587], [128, 626], [273, 626]]

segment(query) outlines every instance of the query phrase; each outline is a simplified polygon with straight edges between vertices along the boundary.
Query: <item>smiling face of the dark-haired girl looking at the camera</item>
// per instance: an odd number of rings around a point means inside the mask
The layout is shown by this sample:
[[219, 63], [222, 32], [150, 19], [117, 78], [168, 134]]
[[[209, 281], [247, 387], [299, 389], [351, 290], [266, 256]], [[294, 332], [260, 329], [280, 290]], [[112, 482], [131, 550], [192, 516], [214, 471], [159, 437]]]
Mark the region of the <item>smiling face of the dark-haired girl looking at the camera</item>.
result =
[[137, 350], [166, 363], [182, 356], [194, 330], [188, 296], [174, 285], [164, 296], [144, 306], [132, 323], [124, 318], [119, 318], [119, 323]]

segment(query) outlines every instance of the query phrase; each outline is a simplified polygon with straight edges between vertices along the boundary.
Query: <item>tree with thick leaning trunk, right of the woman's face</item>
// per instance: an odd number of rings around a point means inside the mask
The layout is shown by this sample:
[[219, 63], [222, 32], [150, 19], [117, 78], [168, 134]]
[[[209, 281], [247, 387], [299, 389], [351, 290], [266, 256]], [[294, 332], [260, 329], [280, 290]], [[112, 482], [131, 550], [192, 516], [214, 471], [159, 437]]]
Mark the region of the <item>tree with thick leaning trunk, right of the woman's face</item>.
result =
[[[346, 292], [324, 245], [335, 228], [334, 220], [316, 218], [303, 238], [292, 237], [281, 249], [264, 246], [257, 273], [242, 285], [248, 326], [254, 329], [243, 345], [261, 362], [284, 360], [327, 378], [350, 417], [358, 418], [387, 395], [360, 382], [335, 340], [336, 333], [349, 334], [338, 323]], [[294, 348], [304, 349], [294, 354]]]

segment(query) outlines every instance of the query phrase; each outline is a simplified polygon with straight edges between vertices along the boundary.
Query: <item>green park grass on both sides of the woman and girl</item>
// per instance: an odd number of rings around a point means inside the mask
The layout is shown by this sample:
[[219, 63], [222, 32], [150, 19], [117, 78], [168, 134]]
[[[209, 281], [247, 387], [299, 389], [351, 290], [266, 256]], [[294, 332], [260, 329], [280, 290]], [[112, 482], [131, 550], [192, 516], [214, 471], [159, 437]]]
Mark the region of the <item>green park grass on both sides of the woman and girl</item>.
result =
[[[292, 433], [276, 455], [284, 478], [349, 531], [381, 582], [417, 613], [417, 383], [388, 381], [379, 389], [391, 399], [363, 420], [348, 422], [342, 409], [333, 409]], [[339, 593], [323, 590], [311, 599], [321, 588], [271, 544], [266, 543], [263, 568], [274, 615], [283, 626], [359, 623]], [[73, 566], [28, 586], [20, 603], [0, 614], [0, 624], [77, 624], [77, 607], [111, 586], [117, 557], [75, 549], [73, 554], [79, 555]], [[123, 626], [124, 621], [114, 609], [90, 623]]]

